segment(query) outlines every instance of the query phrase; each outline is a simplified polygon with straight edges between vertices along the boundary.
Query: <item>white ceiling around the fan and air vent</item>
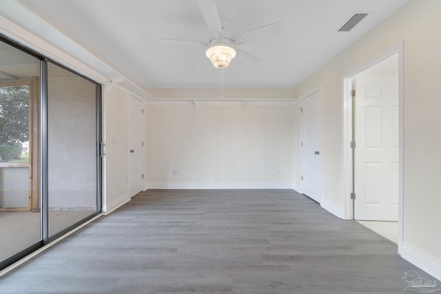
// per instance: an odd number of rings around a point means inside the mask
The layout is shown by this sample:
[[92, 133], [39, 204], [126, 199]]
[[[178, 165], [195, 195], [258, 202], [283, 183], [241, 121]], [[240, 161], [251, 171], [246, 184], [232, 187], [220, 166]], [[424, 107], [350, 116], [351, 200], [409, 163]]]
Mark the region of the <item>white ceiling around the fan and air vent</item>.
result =
[[[219, 88], [222, 78], [227, 89], [294, 88], [407, 2], [216, 0], [227, 36], [283, 25], [277, 36], [239, 46], [261, 61], [238, 52], [222, 72], [196, 43], [159, 40], [212, 38], [196, 0], [17, 1], [153, 96], [167, 88]], [[338, 32], [354, 12], [369, 15], [351, 32]]]

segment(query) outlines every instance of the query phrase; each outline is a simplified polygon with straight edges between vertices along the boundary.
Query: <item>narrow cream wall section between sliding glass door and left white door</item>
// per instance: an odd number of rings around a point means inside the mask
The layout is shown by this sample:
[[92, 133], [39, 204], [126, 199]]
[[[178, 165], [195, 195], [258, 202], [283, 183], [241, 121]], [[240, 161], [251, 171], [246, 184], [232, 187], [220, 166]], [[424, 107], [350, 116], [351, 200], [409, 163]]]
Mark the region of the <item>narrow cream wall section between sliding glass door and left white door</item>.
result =
[[110, 213], [128, 197], [128, 99], [129, 95], [112, 88], [104, 93], [105, 105], [105, 195], [103, 212]]

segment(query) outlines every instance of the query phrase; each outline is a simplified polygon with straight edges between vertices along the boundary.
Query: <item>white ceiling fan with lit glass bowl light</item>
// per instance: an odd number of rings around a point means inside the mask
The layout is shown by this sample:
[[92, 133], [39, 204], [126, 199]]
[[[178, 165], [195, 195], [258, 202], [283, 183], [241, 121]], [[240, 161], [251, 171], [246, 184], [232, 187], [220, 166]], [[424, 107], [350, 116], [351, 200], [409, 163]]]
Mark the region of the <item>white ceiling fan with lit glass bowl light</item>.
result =
[[[209, 30], [212, 30], [214, 36], [208, 41], [186, 40], [186, 39], [160, 39], [161, 41], [172, 41], [180, 43], [198, 43], [198, 45], [207, 48], [205, 55], [212, 62], [216, 68], [225, 68], [238, 54], [245, 54], [256, 61], [260, 61], [258, 57], [249, 54], [238, 48], [238, 45], [247, 43], [249, 41], [260, 41], [267, 39], [270, 36], [280, 34], [282, 31], [282, 23], [277, 21], [258, 28], [252, 28], [240, 34], [226, 36], [223, 32], [225, 25], [223, 25], [216, 6], [215, 0], [197, 0], [198, 6], [201, 9], [205, 23]], [[225, 24], [225, 23], [224, 23]]]

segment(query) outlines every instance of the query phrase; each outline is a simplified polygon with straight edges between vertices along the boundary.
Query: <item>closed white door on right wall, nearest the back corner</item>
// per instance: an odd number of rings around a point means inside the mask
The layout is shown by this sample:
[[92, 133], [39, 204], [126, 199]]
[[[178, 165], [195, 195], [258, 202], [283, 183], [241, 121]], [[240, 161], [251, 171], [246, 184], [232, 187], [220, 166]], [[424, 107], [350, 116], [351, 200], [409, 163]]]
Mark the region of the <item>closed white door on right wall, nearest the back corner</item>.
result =
[[302, 99], [300, 138], [302, 193], [320, 202], [322, 194], [320, 92]]

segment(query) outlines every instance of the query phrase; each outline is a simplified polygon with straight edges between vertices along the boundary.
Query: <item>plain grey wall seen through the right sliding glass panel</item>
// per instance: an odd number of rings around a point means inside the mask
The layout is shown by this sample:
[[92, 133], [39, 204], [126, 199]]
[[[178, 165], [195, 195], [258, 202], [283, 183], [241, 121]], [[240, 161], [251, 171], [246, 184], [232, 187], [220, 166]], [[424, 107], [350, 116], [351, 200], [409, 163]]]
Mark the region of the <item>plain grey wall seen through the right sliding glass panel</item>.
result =
[[[55, 68], [49, 65], [50, 70]], [[79, 77], [49, 77], [48, 189], [51, 209], [96, 209], [95, 105], [94, 83]]]

